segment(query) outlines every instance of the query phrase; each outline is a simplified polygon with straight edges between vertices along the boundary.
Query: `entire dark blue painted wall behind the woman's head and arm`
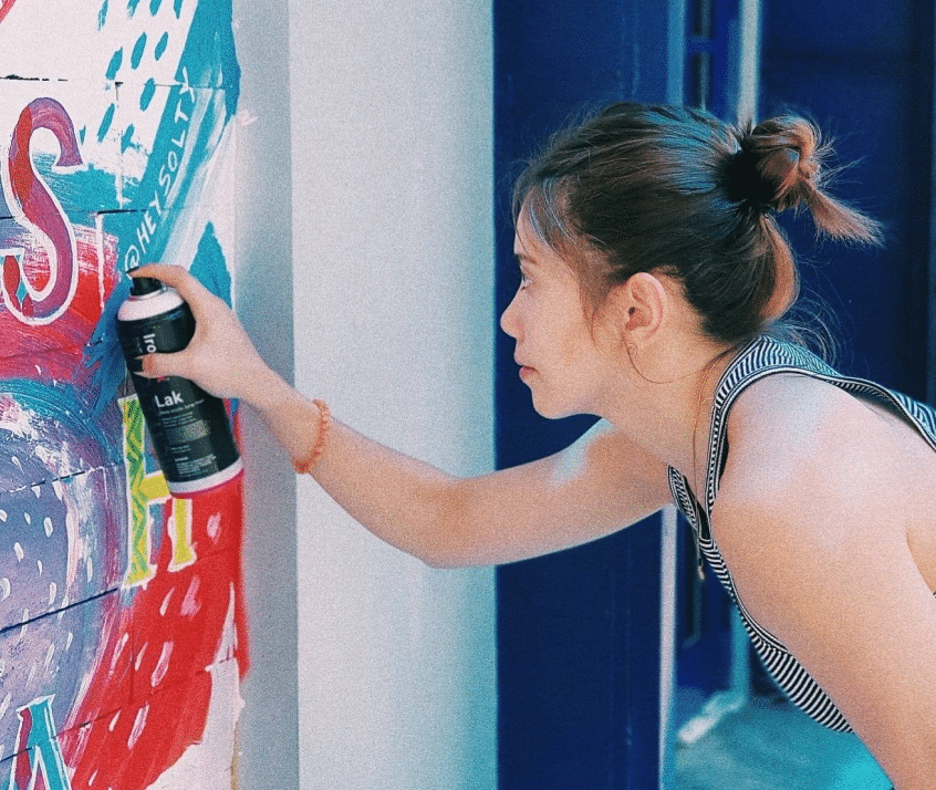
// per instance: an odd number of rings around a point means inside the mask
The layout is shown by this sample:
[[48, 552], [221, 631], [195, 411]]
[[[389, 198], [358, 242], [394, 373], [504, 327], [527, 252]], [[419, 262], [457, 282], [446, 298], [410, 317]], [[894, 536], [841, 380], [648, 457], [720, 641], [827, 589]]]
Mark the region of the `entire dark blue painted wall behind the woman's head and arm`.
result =
[[[724, 14], [737, 3], [715, 3], [722, 14], [715, 22], [722, 40], [715, 43], [687, 35], [694, 0], [685, 3], [687, 29], [672, 30], [669, 17], [679, 6], [495, 0], [498, 313], [517, 287], [510, 183], [517, 163], [553, 129], [614, 98], [667, 101], [674, 85], [693, 102], [699, 52], [715, 59], [710, 106], [730, 114], [725, 98], [736, 85], [724, 65], [732, 51], [722, 35]], [[836, 363], [932, 397], [933, 3], [763, 0], [762, 14], [759, 117], [798, 110], [830, 132], [839, 154], [833, 166], [856, 163], [839, 175], [833, 194], [886, 227], [885, 249], [861, 249], [817, 243], [809, 220], [782, 219], [800, 253], [805, 292], [831, 311]], [[689, 77], [685, 93], [669, 59], [680, 46]], [[538, 417], [512, 351], [512, 341], [499, 333], [500, 467], [555, 451], [591, 423]], [[658, 569], [655, 519], [591, 545], [499, 569], [501, 790], [656, 787]], [[699, 599], [707, 641], [687, 642], [679, 656], [680, 682], [699, 698], [727, 679], [727, 610], [724, 599], [709, 593]]]

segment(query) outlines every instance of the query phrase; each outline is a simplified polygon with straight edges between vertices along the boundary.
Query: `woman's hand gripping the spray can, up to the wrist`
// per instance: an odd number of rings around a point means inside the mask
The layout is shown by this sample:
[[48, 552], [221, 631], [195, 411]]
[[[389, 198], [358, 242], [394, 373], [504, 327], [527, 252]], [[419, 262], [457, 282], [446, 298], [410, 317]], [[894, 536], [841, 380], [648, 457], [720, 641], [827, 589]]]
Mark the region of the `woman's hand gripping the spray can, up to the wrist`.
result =
[[141, 357], [142, 375], [180, 376], [217, 397], [247, 403], [253, 402], [264, 383], [275, 377], [230, 308], [186, 269], [149, 263], [134, 269], [131, 276], [155, 278], [176, 289], [195, 316], [195, 335], [189, 344], [173, 354]]

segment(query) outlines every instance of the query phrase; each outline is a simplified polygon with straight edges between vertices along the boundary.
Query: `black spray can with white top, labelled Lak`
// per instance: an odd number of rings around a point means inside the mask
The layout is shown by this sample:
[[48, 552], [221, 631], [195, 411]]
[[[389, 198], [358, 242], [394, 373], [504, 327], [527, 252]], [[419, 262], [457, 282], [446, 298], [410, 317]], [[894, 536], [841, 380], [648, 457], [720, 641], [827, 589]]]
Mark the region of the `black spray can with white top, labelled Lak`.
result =
[[138, 356], [181, 351], [194, 332], [178, 292], [159, 280], [133, 279], [117, 311], [117, 335], [166, 484], [180, 497], [227, 482], [242, 468], [223, 401], [186, 378], [134, 373]]

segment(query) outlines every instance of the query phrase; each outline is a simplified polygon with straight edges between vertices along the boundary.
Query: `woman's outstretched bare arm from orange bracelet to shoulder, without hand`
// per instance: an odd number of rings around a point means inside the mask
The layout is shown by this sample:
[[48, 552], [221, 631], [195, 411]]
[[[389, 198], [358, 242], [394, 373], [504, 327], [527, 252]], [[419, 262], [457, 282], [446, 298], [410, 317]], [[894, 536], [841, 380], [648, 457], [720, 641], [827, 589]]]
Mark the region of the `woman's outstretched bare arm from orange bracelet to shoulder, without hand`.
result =
[[435, 566], [512, 562], [578, 545], [668, 501], [648, 465], [606, 423], [565, 450], [456, 478], [336, 423], [312, 475], [356, 521]]

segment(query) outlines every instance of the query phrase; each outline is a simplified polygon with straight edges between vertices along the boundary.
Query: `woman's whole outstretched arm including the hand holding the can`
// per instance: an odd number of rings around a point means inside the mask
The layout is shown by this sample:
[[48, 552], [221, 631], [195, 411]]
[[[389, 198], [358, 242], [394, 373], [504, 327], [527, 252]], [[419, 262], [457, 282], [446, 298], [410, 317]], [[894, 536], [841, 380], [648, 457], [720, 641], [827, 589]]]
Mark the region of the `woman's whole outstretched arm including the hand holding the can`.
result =
[[[137, 273], [176, 288], [196, 319], [188, 347], [144, 357], [144, 374], [184, 376], [239, 398], [293, 459], [309, 458], [321, 429], [318, 407], [263, 363], [227, 305], [179, 267]], [[378, 538], [439, 566], [509, 562], [584, 543], [669, 501], [665, 465], [606, 423], [549, 458], [457, 478], [333, 419], [312, 475]]]

